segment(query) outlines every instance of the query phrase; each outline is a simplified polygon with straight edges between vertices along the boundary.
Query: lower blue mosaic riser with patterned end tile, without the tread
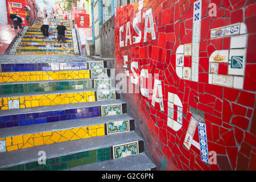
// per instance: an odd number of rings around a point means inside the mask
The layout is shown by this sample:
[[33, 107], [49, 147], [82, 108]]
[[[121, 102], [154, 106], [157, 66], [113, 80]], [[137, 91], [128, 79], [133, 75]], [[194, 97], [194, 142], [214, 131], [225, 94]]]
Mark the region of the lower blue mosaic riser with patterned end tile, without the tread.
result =
[[[115, 113], [109, 112], [108, 114], [126, 113], [126, 104], [120, 104], [115, 106], [119, 107], [118, 109], [115, 109]], [[94, 106], [82, 107], [77, 109], [45, 111], [40, 113], [4, 115], [0, 117], [0, 128], [21, 127], [50, 122], [68, 121], [71, 119], [101, 117], [102, 110], [102, 106]], [[119, 110], [122, 110], [122, 112], [120, 112]]]

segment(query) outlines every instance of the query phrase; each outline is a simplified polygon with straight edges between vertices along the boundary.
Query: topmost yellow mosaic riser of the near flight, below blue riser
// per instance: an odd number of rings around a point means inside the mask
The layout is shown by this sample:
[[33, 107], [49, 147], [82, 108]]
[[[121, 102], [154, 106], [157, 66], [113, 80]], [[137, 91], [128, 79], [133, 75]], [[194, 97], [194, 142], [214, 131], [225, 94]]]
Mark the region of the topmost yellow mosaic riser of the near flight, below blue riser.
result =
[[0, 73], [0, 82], [76, 80], [110, 76], [110, 69], [4, 72]]

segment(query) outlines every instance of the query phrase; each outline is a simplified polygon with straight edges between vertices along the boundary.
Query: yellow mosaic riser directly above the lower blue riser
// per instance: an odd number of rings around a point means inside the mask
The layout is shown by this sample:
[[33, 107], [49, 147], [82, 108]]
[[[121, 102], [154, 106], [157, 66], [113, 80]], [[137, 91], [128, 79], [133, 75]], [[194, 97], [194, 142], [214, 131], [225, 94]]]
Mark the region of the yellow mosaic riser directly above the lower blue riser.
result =
[[115, 100], [115, 98], [119, 98], [119, 94], [115, 93], [115, 90], [44, 94], [36, 96], [9, 96], [0, 98], [0, 110], [26, 109], [39, 106], [54, 106], [82, 102]]

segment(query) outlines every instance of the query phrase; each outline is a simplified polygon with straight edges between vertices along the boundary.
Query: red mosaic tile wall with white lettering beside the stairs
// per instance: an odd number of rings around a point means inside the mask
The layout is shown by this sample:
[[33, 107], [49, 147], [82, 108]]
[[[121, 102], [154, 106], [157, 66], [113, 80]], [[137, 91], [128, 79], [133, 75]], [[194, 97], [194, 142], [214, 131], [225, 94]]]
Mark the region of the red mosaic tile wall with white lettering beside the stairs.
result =
[[256, 169], [255, 6], [144, 0], [117, 8], [115, 69], [139, 87], [124, 96], [159, 169]]

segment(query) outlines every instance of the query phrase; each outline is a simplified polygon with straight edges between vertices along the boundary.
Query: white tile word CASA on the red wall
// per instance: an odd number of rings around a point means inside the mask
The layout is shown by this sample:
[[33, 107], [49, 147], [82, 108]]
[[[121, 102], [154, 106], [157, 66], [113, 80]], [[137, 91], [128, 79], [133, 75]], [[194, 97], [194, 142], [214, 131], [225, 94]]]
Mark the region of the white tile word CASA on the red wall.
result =
[[[141, 11], [140, 11], [141, 12]], [[122, 32], [124, 30], [124, 25], [120, 27], [119, 29], [119, 46], [123, 47], [123, 46], [127, 46], [127, 44], [131, 45], [132, 43], [139, 43], [141, 42], [141, 38], [142, 38], [142, 31], [139, 30], [137, 24], [141, 22], [141, 13], [139, 12], [138, 16], [136, 16], [133, 19], [133, 28], [135, 30], [135, 32], [137, 32], [138, 36], [133, 36], [133, 42], [131, 41], [131, 28], [130, 28], [130, 22], [126, 23], [126, 36], [125, 36], [125, 40], [122, 40]], [[154, 29], [154, 19], [153, 19], [153, 15], [152, 15], [152, 10], [149, 9], [146, 11], [145, 13], [145, 26], [144, 26], [144, 42], [147, 41], [147, 34], [150, 33], [152, 36], [152, 40], [156, 39], [155, 37], [155, 29]], [[150, 27], [148, 27], [148, 21], [150, 23]]]

